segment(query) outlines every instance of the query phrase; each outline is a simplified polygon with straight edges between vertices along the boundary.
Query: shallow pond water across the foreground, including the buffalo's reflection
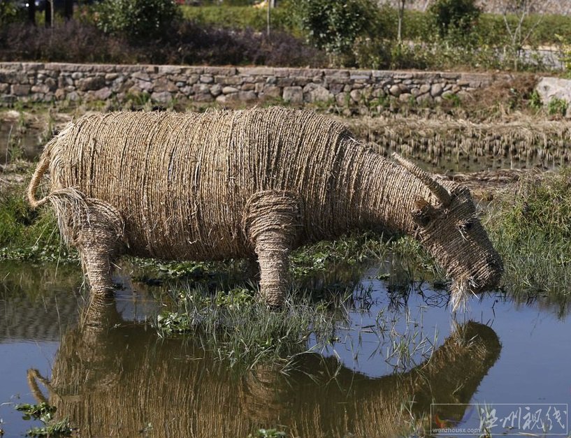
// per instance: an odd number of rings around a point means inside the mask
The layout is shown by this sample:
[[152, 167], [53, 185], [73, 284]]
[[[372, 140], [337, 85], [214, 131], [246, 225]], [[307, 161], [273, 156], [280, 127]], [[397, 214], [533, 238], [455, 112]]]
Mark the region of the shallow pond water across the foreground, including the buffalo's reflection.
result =
[[[114, 305], [80, 316], [79, 272], [56, 277], [53, 270], [0, 267], [6, 437], [33, 424], [13, 403], [41, 397], [82, 436], [121, 437], [246, 437], [275, 426], [300, 437], [392, 437], [414, 430], [411, 415], [425, 427], [431, 420], [477, 427], [479, 407], [458, 405], [467, 403], [492, 404], [498, 421], [491, 432], [500, 434], [507, 429], [499, 420], [517, 409], [522, 417], [526, 407], [562, 411], [571, 399], [571, 323], [566, 309], [558, 317], [561, 309], [548, 302], [524, 305], [500, 293], [472, 299], [451, 336], [442, 292], [421, 284], [398, 294], [373, 267], [356, 286], [335, 340], [286, 376], [268, 367], [230, 370], [192, 337], [159, 338], [150, 320], [161, 303], [127, 279]], [[433, 401], [456, 405], [431, 414]], [[523, 424], [512, 432], [538, 432]], [[554, 423], [551, 433], [566, 428]]]

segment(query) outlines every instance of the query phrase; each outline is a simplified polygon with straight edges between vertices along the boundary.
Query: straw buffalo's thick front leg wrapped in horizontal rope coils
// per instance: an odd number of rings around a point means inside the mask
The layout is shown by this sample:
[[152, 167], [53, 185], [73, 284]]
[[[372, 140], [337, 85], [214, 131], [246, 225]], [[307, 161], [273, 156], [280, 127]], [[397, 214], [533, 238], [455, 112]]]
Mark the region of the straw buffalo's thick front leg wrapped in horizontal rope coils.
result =
[[298, 199], [288, 191], [261, 191], [247, 202], [244, 231], [258, 256], [260, 291], [270, 307], [285, 300], [289, 251], [298, 235], [299, 217]]

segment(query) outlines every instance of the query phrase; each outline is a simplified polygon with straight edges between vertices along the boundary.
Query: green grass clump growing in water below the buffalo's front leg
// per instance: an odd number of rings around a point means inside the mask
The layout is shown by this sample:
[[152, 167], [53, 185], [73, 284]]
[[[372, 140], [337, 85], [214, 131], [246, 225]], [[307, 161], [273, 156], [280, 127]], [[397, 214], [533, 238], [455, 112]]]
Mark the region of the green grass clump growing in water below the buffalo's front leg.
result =
[[198, 286], [171, 293], [178, 309], [157, 317], [159, 335], [198, 337], [219, 360], [242, 368], [273, 363], [288, 370], [297, 356], [309, 352], [310, 335], [326, 344], [333, 339], [335, 321], [343, 317], [327, 304], [299, 297], [289, 298], [279, 310], [268, 309], [254, 297], [256, 291], [243, 288], [210, 295]]

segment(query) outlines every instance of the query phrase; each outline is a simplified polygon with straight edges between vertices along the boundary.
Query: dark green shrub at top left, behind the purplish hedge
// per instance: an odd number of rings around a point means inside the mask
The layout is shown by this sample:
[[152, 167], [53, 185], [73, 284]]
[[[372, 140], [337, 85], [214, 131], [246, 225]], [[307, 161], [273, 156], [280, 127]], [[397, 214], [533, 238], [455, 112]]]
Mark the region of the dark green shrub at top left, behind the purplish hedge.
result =
[[173, 0], [104, 0], [96, 6], [99, 29], [133, 40], [160, 37], [179, 16], [180, 9]]

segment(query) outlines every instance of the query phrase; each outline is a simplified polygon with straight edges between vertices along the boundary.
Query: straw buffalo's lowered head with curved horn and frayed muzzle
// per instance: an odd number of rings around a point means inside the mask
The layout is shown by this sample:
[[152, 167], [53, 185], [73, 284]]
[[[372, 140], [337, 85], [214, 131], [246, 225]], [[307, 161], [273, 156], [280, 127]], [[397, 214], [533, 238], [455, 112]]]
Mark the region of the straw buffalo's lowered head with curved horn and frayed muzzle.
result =
[[416, 237], [454, 280], [451, 307], [458, 309], [469, 293], [498, 286], [503, 272], [500, 255], [480, 223], [467, 187], [440, 183], [418, 166], [393, 157], [423, 182], [433, 196], [417, 196], [410, 211]]

